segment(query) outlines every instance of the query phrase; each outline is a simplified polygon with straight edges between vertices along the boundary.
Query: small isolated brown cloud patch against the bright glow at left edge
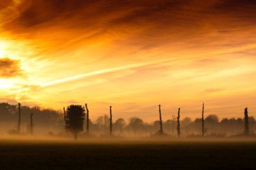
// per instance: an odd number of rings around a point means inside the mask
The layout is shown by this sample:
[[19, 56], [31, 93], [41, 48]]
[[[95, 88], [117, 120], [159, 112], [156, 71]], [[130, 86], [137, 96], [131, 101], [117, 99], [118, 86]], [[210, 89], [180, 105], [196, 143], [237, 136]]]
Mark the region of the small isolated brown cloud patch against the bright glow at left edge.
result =
[[10, 58], [0, 58], [0, 77], [12, 78], [21, 75], [19, 61]]

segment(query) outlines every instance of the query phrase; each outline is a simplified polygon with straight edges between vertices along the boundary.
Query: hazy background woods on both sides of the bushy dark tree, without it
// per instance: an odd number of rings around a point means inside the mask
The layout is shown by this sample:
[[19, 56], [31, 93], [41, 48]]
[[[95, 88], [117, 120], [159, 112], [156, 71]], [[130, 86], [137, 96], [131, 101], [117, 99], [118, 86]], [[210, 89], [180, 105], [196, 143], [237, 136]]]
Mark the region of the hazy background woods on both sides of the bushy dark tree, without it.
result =
[[[160, 109], [160, 108], [159, 108]], [[65, 120], [63, 112], [53, 109], [40, 109], [40, 107], [20, 106], [20, 133], [33, 133], [46, 135], [65, 135], [68, 133], [65, 129]], [[156, 120], [148, 123], [139, 117], [132, 117], [128, 120], [117, 118], [115, 112], [113, 118], [109, 114], [105, 114], [96, 118], [96, 120], [83, 122], [83, 131], [81, 135], [89, 133], [91, 135], [113, 135], [120, 136], [137, 136], [147, 137], [156, 133], [164, 133], [173, 136], [197, 136], [202, 134], [202, 118], [192, 120], [189, 117], [183, 117], [178, 110], [177, 115], [170, 115], [169, 119]], [[156, 113], [157, 118], [158, 113]], [[241, 117], [244, 115], [241, 111]], [[33, 119], [32, 119], [33, 116]], [[200, 113], [199, 116], [201, 117]], [[85, 120], [87, 120], [85, 118]], [[112, 121], [112, 123], [110, 123]], [[256, 120], [253, 116], [248, 116], [248, 133], [253, 133], [256, 129]], [[29, 126], [33, 122], [33, 129]], [[87, 125], [87, 122], [89, 124]], [[205, 135], [209, 136], [229, 136], [238, 135], [244, 132], [244, 118], [223, 118], [220, 120], [215, 114], [205, 114], [203, 118]], [[8, 103], [0, 103], [0, 131], [1, 133], [12, 133], [18, 128], [18, 105], [10, 105]], [[111, 130], [110, 130], [111, 129]]]

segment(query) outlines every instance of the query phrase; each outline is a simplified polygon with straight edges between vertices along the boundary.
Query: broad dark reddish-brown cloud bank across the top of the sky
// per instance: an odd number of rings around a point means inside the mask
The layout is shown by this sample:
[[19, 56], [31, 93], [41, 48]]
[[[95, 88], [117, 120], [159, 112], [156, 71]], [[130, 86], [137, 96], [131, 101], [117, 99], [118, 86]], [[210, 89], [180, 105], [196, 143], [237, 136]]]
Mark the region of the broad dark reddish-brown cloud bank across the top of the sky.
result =
[[[85, 34], [83, 39], [107, 36], [119, 46], [138, 46], [141, 50], [162, 44], [212, 48], [239, 44], [225, 41], [227, 35], [255, 26], [255, 8], [253, 0], [33, 0], [4, 28], [29, 36], [37, 31], [51, 35], [68, 29], [78, 35], [67, 39]], [[205, 39], [199, 41], [199, 37]]]

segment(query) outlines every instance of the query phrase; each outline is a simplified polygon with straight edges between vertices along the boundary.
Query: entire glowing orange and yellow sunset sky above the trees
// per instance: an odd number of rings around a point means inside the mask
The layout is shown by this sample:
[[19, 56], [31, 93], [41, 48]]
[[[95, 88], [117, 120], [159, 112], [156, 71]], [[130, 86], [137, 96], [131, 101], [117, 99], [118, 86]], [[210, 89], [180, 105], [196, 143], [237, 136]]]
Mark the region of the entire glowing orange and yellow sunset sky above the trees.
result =
[[254, 0], [1, 0], [0, 102], [91, 119], [256, 116]]

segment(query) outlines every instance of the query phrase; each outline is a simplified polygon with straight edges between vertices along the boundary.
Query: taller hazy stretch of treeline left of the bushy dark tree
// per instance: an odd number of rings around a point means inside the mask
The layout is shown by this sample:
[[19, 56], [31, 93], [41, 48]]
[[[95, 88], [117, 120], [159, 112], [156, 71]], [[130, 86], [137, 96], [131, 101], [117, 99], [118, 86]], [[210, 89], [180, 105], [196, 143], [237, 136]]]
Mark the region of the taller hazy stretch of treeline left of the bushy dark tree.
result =
[[[62, 116], [53, 109], [27, 107], [20, 105], [20, 119], [18, 105], [0, 103], [0, 132], [1, 133], [48, 133], [61, 128]], [[34, 125], [32, 129], [31, 124]]]

